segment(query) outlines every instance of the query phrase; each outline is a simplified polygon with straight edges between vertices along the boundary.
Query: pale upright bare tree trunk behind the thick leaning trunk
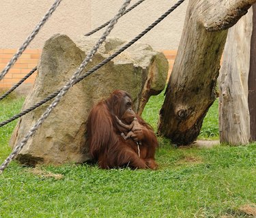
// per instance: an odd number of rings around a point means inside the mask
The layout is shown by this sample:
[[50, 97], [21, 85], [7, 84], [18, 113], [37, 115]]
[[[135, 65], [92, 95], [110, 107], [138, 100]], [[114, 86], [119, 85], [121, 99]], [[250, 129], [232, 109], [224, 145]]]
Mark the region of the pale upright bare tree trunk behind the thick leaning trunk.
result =
[[220, 74], [220, 141], [247, 144], [250, 140], [248, 74], [250, 67], [253, 11], [229, 29]]

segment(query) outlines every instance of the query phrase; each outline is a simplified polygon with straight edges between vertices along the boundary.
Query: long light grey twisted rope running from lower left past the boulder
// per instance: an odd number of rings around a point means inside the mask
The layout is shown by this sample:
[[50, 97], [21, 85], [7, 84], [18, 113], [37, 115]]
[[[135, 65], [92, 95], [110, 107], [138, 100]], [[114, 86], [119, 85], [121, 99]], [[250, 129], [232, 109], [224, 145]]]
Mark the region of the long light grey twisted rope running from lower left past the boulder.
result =
[[98, 42], [96, 43], [94, 48], [92, 48], [91, 52], [89, 52], [87, 57], [85, 57], [85, 59], [83, 60], [83, 62], [79, 66], [79, 68], [76, 69], [76, 72], [74, 72], [72, 78], [70, 78], [70, 80], [66, 83], [66, 85], [61, 89], [60, 93], [57, 95], [57, 97], [51, 103], [51, 105], [48, 106], [48, 108], [46, 109], [44, 114], [42, 114], [41, 118], [38, 119], [38, 121], [35, 123], [35, 125], [33, 125], [33, 127], [31, 127], [31, 129], [29, 130], [29, 132], [27, 133], [25, 138], [23, 138], [23, 140], [21, 140], [21, 142], [17, 146], [15, 146], [14, 151], [12, 151], [12, 153], [9, 155], [9, 157], [7, 159], [5, 159], [5, 161], [0, 166], [0, 174], [3, 173], [3, 170], [18, 155], [19, 151], [21, 149], [23, 149], [23, 146], [25, 146], [25, 144], [27, 144], [27, 141], [29, 140], [29, 138], [31, 138], [31, 136], [33, 136], [35, 131], [40, 127], [40, 125], [42, 125], [44, 120], [51, 114], [51, 112], [57, 106], [57, 104], [59, 104], [61, 98], [68, 92], [68, 89], [70, 89], [70, 87], [72, 87], [72, 85], [76, 82], [77, 78], [79, 78], [79, 75], [81, 74], [81, 72], [83, 71], [83, 69], [85, 68], [87, 63], [89, 63], [91, 58], [97, 52], [100, 45], [104, 42], [104, 40], [106, 40], [106, 36], [109, 35], [109, 33], [113, 29], [114, 25], [117, 23], [117, 20], [122, 16], [122, 14], [124, 14], [124, 11], [126, 10], [126, 7], [129, 5], [130, 1], [131, 0], [125, 0], [124, 4], [120, 8], [119, 12], [111, 20], [111, 22], [110, 22], [109, 26], [107, 27], [106, 31], [102, 34], [102, 37], [100, 37], [100, 40], [98, 40]]

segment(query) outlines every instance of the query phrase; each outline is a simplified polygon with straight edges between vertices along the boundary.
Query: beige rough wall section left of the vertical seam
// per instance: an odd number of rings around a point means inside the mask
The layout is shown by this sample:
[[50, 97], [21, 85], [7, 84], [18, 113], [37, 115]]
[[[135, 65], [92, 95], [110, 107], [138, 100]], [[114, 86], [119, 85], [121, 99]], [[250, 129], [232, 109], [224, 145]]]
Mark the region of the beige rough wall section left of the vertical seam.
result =
[[[0, 48], [20, 47], [53, 3], [54, 0], [1, 0]], [[42, 48], [54, 33], [74, 37], [85, 33], [90, 27], [91, 1], [63, 0], [29, 48]]]

